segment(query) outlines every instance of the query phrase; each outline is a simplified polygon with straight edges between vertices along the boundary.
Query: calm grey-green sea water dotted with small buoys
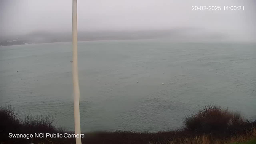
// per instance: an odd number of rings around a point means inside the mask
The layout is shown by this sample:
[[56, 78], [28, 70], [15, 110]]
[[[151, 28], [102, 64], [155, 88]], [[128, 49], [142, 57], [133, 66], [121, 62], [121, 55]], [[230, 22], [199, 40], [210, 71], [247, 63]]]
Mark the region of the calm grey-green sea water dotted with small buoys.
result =
[[[0, 47], [0, 105], [74, 130], [71, 60], [71, 42]], [[256, 117], [255, 44], [79, 42], [78, 67], [83, 132], [176, 129], [206, 104]]]

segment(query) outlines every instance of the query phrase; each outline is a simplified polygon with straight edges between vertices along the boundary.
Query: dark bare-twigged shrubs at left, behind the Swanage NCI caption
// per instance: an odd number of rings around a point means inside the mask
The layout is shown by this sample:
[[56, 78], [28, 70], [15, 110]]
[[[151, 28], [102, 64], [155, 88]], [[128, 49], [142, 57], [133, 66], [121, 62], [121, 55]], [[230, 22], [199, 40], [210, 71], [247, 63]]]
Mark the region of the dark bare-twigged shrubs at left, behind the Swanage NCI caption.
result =
[[[31, 143], [31, 140], [26, 138], [9, 138], [9, 133], [12, 134], [35, 134], [35, 133], [58, 133], [64, 134], [62, 127], [56, 127], [53, 125], [55, 116], [26, 116], [21, 120], [18, 113], [14, 111], [12, 106], [0, 107], [0, 143], [6, 142], [13, 143], [18, 141], [19, 143]], [[33, 138], [36, 142], [36, 138]], [[70, 139], [72, 140], [72, 139]]]

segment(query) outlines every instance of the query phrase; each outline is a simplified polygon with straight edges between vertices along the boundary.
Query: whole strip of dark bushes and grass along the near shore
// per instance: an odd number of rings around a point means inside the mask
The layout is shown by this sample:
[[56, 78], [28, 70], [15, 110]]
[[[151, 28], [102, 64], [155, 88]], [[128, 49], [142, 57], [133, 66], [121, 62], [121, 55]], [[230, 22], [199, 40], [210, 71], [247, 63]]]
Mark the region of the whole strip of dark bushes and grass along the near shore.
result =
[[[9, 138], [8, 134], [74, 134], [53, 125], [54, 117], [21, 119], [11, 106], [0, 107], [0, 144], [75, 144], [75, 138]], [[162, 132], [94, 132], [84, 134], [84, 144], [256, 144], [256, 120], [238, 112], [204, 106], [184, 118], [184, 127]]]

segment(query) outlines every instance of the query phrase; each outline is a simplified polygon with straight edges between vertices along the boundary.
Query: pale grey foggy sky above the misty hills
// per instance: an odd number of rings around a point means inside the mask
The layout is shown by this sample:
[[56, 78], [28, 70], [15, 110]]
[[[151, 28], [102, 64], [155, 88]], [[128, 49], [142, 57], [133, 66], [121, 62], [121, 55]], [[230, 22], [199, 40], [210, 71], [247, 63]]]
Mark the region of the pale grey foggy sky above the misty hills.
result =
[[[222, 10], [192, 11], [192, 6]], [[244, 6], [244, 11], [223, 6]], [[255, 26], [254, 0], [78, 0], [78, 32], [195, 27], [254, 40]], [[71, 30], [72, 0], [0, 0], [0, 36]]]

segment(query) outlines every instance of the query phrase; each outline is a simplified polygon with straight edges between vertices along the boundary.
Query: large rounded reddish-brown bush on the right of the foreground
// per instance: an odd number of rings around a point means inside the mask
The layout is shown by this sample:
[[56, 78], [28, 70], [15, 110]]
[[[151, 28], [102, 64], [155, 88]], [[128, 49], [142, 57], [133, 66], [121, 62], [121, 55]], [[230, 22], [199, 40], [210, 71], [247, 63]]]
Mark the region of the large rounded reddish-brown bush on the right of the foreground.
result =
[[223, 133], [231, 127], [240, 127], [248, 124], [248, 120], [239, 112], [229, 112], [220, 106], [208, 105], [201, 108], [197, 114], [186, 116], [185, 130], [196, 133]]

